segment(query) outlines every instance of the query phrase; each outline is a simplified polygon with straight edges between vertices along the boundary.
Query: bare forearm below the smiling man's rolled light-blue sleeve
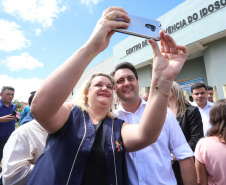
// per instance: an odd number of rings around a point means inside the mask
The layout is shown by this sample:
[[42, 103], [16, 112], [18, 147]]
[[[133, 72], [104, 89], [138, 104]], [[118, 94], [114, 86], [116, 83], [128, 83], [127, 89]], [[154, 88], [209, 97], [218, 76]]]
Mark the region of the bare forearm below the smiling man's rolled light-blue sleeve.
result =
[[197, 176], [193, 157], [188, 157], [186, 159], [179, 160], [179, 164], [184, 185], [196, 184]]

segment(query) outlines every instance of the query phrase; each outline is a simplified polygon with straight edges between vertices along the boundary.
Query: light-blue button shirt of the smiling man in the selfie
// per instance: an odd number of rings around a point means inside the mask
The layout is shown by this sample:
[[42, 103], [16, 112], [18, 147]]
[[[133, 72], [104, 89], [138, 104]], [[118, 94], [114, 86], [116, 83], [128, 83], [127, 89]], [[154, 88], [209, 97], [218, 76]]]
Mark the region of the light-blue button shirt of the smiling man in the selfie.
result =
[[[139, 124], [145, 105], [146, 101], [142, 99], [135, 113], [126, 112], [120, 105], [117, 116], [130, 124]], [[167, 109], [166, 120], [156, 143], [137, 152], [126, 153], [129, 184], [176, 185], [171, 153], [177, 160], [193, 156], [175, 116], [170, 109]]]

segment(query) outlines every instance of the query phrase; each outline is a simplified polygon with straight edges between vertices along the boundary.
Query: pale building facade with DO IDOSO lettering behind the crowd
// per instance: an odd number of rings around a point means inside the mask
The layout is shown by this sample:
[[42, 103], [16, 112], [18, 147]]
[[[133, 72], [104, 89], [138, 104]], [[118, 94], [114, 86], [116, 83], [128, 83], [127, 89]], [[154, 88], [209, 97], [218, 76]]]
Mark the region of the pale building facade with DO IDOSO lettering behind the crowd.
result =
[[[206, 85], [216, 86], [219, 98], [224, 98], [222, 86], [226, 84], [225, 17], [226, 0], [187, 0], [158, 18], [162, 29], [189, 51], [176, 81], [201, 79]], [[93, 73], [110, 73], [124, 61], [135, 65], [140, 88], [150, 86], [152, 49], [146, 39], [134, 36], [116, 44], [113, 56], [87, 70], [79, 83]]]

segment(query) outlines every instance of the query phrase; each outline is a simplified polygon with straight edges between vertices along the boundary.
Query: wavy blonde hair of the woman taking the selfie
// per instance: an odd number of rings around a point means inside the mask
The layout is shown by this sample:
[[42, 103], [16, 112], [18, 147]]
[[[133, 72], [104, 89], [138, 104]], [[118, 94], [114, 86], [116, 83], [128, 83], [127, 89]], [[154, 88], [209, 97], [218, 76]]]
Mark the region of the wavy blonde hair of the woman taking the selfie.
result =
[[[75, 98], [71, 102], [73, 105], [77, 105], [78, 107], [80, 107], [82, 111], [87, 112], [87, 107], [89, 105], [88, 105], [88, 98], [86, 96], [86, 93], [88, 92], [88, 90], [91, 86], [92, 80], [95, 77], [98, 77], [98, 76], [107, 77], [111, 81], [111, 84], [114, 85], [114, 80], [110, 75], [107, 75], [107, 74], [104, 74], [104, 73], [96, 73], [96, 74], [92, 75], [91, 78], [86, 80], [82, 84], [82, 86], [76, 91]], [[113, 101], [112, 101], [111, 106], [109, 107], [107, 116], [110, 117], [110, 118], [115, 118], [115, 115], [113, 114], [113, 111], [112, 111], [112, 108], [111, 108], [111, 107], [113, 107], [112, 105], [113, 105]]]

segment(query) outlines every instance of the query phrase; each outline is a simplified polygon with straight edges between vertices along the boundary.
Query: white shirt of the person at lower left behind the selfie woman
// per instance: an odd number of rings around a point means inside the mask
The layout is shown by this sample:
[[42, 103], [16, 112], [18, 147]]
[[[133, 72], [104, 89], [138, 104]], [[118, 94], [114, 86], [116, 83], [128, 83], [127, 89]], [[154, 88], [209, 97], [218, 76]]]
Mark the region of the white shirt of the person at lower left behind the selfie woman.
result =
[[26, 185], [34, 164], [44, 150], [47, 132], [32, 120], [17, 128], [9, 137], [2, 161], [4, 185]]

